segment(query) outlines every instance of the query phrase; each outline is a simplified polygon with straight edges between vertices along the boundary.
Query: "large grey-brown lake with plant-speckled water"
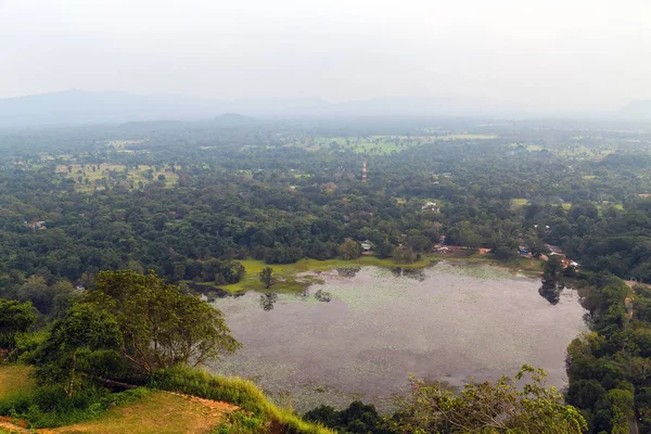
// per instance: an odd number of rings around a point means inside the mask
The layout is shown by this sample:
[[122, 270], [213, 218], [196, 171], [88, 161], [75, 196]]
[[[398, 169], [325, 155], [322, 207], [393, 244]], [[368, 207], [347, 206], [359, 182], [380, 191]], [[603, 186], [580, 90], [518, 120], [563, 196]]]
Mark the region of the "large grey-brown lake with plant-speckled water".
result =
[[[585, 330], [576, 292], [551, 305], [539, 280], [497, 267], [441, 263], [407, 275], [365, 267], [320, 278], [303, 294], [219, 298], [244, 346], [212, 370], [291, 396], [298, 411], [356, 398], [388, 411], [410, 373], [459, 386], [529, 363], [562, 387], [565, 348]], [[318, 290], [330, 302], [317, 299]]]

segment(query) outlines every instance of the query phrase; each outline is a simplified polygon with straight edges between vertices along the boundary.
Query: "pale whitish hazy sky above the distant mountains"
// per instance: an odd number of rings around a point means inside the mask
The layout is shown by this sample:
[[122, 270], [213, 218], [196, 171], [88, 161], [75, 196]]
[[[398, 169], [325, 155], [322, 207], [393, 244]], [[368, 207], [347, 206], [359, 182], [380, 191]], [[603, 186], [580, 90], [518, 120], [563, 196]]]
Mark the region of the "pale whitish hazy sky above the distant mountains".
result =
[[0, 97], [651, 99], [651, 0], [0, 0]]

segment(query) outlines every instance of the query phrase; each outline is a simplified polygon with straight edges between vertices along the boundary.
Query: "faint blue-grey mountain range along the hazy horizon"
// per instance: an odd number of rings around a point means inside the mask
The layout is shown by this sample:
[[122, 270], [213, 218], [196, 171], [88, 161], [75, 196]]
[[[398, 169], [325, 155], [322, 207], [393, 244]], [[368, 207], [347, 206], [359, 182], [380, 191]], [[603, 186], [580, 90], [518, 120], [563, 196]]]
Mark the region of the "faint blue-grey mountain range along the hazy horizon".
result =
[[[489, 103], [441, 95], [385, 97], [330, 103], [319, 98], [296, 100], [208, 100], [181, 95], [67, 90], [0, 99], [0, 128], [146, 120], [197, 120], [222, 114], [254, 117], [333, 116], [473, 116], [505, 115]], [[651, 118], [651, 101], [635, 101], [613, 117]]]

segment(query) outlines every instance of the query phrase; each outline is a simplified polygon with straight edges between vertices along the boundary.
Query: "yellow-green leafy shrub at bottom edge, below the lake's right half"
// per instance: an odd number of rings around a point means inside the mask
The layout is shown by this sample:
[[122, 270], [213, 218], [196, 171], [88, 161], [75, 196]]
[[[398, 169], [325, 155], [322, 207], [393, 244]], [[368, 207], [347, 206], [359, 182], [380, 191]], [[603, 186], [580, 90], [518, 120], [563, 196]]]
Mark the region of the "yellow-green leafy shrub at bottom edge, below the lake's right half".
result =
[[[531, 375], [519, 387], [516, 382]], [[411, 394], [399, 399], [394, 427], [404, 434], [582, 434], [580, 412], [563, 404], [554, 387], [545, 386], [545, 371], [523, 366], [514, 380], [467, 384], [455, 394], [441, 383], [412, 378]]]

